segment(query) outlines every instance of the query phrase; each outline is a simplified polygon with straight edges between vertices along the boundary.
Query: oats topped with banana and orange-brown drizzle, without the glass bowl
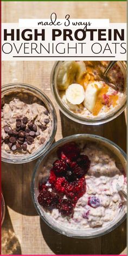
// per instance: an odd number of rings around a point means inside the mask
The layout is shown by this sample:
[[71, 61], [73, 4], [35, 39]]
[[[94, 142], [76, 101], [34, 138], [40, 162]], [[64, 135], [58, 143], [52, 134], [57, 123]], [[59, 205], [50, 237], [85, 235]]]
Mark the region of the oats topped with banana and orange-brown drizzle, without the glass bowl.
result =
[[108, 61], [63, 61], [57, 73], [62, 104], [79, 117], [102, 118], [121, 106], [125, 93], [123, 72], [116, 63], [104, 77]]

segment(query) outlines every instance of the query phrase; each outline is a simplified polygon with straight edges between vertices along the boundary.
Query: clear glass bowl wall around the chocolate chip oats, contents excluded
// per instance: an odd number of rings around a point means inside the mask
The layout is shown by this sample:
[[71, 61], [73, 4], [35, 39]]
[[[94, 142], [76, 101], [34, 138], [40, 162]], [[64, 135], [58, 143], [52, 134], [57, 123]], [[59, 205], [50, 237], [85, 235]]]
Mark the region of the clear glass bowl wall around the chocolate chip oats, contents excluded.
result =
[[[21, 93], [21, 97], [20, 97], [20, 93]], [[44, 152], [47, 151], [49, 146], [52, 145], [56, 135], [57, 117], [56, 117], [56, 111], [53, 106], [53, 103], [52, 101], [50, 101], [48, 96], [45, 93], [43, 93], [40, 89], [31, 85], [15, 83], [15, 84], [8, 84], [8, 85], [2, 86], [2, 105], [3, 105], [3, 99], [5, 102], [9, 103], [9, 101], [12, 98], [16, 97], [17, 94], [18, 94], [18, 98], [20, 98], [21, 100], [23, 97], [22, 95], [25, 95], [25, 94], [29, 94], [32, 97], [36, 97], [40, 101], [40, 103], [46, 106], [46, 108], [48, 109], [49, 113], [52, 116], [52, 129], [49, 134], [49, 140], [47, 140], [47, 142], [44, 145], [42, 145], [39, 149], [37, 149], [31, 154], [26, 154], [26, 155], [9, 155], [8, 153], [2, 152], [3, 162], [20, 164], [20, 163], [27, 163], [27, 162], [33, 161], [37, 157], [40, 157]]]

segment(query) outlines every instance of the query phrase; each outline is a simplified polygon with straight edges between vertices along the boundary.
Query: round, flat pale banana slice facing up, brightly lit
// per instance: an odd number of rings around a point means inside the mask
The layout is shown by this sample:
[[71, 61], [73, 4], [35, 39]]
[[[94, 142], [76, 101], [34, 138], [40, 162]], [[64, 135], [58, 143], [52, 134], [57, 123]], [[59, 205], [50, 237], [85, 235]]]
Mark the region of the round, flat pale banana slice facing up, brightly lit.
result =
[[79, 105], [85, 99], [84, 88], [79, 84], [69, 85], [66, 89], [66, 99], [73, 105]]

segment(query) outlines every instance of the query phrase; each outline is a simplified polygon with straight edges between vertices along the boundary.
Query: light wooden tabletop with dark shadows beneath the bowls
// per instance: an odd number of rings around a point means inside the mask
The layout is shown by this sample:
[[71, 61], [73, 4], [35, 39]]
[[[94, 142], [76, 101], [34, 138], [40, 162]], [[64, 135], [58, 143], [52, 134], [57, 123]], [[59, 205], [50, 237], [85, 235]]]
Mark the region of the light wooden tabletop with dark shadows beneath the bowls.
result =
[[[52, 12], [60, 18], [69, 13], [72, 18], [110, 18], [110, 22], [126, 22], [125, 2], [2, 3], [3, 22], [18, 22], [18, 18], [48, 18]], [[124, 113], [105, 125], [87, 126], [74, 123], [58, 110], [49, 86], [53, 64], [49, 61], [4, 61], [2, 85], [24, 82], [42, 89], [52, 99], [58, 118], [55, 140], [76, 133], [93, 133], [111, 139], [126, 152]], [[6, 204], [2, 253], [126, 254], [126, 222], [100, 238], [83, 240], [60, 235], [40, 219], [30, 194], [35, 162], [20, 165], [2, 163], [2, 189]]]

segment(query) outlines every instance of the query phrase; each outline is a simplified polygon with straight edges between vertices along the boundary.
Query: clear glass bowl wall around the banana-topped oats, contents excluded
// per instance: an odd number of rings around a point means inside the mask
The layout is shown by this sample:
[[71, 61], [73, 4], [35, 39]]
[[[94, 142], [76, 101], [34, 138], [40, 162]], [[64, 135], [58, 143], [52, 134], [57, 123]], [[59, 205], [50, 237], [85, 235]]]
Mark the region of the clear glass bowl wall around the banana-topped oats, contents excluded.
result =
[[54, 98], [56, 100], [57, 105], [59, 106], [60, 110], [62, 111], [65, 116], [67, 116], [69, 119], [72, 119], [73, 121], [76, 121], [77, 123], [86, 124], [86, 125], [99, 125], [107, 123], [108, 121], [113, 120], [114, 118], [118, 117], [119, 114], [121, 114], [125, 107], [126, 107], [126, 66], [124, 65], [124, 62], [118, 61], [117, 64], [120, 67], [123, 75], [124, 75], [124, 81], [125, 81], [125, 91], [124, 91], [124, 97], [121, 99], [120, 104], [118, 104], [117, 107], [114, 107], [113, 111], [111, 113], [105, 114], [102, 117], [95, 117], [95, 118], [84, 118], [80, 117], [77, 114], [71, 112], [68, 110], [68, 108], [63, 104], [62, 99], [59, 94], [59, 90], [57, 89], [57, 74], [59, 72], [60, 66], [62, 64], [62, 61], [56, 61], [52, 73], [50, 76], [50, 86], [52, 88], [52, 92], [54, 95]]

